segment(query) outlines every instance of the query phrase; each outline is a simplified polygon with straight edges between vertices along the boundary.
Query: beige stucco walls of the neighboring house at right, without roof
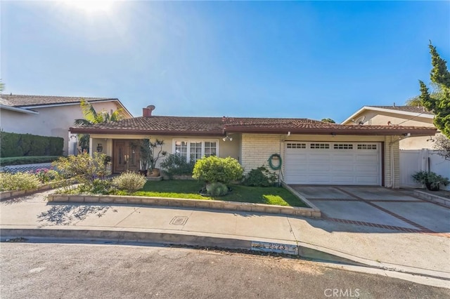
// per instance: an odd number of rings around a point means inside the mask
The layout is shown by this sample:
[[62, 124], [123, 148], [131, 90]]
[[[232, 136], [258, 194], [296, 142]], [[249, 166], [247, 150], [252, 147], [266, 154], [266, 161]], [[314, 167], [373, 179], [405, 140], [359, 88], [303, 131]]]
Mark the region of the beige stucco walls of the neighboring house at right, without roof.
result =
[[[388, 126], [389, 124], [392, 126], [435, 126], [433, 124], [433, 116], [431, 114], [420, 114], [417, 116], [417, 114], [401, 114], [396, 110], [391, 111], [392, 112], [385, 112], [380, 110], [364, 109], [359, 114], [356, 114], [354, 119], [364, 117], [364, 124], [374, 126]], [[350, 120], [345, 121], [342, 124], [357, 125]], [[440, 133], [437, 133], [436, 135], [440, 135]], [[431, 141], [432, 139], [434, 139], [434, 136], [433, 138], [430, 138], [430, 136], [404, 138], [400, 141], [399, 147], [400, 150], [432, 149], [434, 145]]]

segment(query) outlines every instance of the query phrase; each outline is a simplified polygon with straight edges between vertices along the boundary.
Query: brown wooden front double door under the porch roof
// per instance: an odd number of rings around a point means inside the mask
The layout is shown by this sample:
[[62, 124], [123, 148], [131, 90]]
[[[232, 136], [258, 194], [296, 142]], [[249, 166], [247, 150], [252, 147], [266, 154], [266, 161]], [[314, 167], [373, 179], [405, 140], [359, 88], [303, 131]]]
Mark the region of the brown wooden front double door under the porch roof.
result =
[[139, 171], [137, 140], [114, 140], [113, 173]]

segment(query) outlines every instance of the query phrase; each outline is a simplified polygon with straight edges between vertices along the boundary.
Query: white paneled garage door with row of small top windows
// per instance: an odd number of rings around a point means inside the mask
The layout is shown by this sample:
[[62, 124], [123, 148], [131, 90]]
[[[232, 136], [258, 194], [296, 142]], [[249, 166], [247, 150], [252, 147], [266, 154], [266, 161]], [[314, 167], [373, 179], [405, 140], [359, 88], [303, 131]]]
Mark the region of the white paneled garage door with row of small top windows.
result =
[[298, 185], [381, 185], [379, 142], [285, 142], [284, 180]]

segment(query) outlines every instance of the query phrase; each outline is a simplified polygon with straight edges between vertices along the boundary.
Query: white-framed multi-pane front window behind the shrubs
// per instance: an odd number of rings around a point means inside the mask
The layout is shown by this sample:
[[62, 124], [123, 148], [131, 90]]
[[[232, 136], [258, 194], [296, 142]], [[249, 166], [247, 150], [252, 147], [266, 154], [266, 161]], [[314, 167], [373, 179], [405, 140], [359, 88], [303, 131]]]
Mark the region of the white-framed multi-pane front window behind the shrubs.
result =
[[187, 161], [197, 161], [202, 157], [217, 155], [217, 141], [174, 140], [174, 153], [185, 157]]

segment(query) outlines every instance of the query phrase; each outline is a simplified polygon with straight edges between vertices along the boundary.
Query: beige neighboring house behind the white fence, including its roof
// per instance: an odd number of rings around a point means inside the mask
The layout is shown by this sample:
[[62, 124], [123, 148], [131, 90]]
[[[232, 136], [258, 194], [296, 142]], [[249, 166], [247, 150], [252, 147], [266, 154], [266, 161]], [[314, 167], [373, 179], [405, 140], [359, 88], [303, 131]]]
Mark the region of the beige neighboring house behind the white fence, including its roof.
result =
[[[435, 114], [425, 107], [415, 106], [364, 106], [350, 115], [343, 125], [427, 126], [435, 128]], [[437, 134], [440, 134], [437, 132]], [[400, 150], [432, 149], [435, 134], [415, 136], [400, 141]]]

